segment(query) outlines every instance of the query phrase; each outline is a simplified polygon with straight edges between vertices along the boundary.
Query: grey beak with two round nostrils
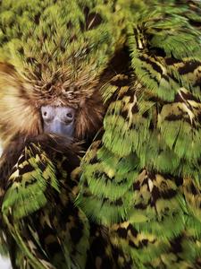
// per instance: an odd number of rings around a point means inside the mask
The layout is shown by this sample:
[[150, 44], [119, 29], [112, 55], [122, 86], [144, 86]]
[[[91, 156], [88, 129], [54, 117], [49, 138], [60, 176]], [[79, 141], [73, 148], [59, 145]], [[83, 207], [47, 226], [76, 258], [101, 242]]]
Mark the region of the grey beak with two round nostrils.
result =
[[45, 133], [73, 137], [75, 129], [74, 108], [42, 106], [41, 115]]

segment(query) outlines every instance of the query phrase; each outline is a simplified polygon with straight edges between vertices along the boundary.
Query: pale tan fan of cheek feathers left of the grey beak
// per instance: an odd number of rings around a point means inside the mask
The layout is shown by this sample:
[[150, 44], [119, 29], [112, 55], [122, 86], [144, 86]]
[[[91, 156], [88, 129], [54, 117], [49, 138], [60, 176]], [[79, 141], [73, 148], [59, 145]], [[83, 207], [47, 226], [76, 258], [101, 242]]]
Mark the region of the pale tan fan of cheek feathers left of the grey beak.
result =
[[36, 135], [40, 129], [38, 109], [31, 89], [26, 89], [10, 65], [0, 64], [0, 137], [3, 146], [17, 134]]

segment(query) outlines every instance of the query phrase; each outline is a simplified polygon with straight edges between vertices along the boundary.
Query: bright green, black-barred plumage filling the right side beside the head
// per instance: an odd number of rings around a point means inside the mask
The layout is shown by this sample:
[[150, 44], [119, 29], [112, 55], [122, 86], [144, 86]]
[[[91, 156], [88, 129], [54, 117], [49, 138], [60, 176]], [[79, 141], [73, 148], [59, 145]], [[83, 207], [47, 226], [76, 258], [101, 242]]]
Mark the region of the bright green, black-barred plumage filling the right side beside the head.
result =
[[120, 268], [201, 266], [200, 3], [174, 2], [130, 8], [132, 70], [103, 89], [104, 130], [81, 163], [77, 204], [130, 257]]

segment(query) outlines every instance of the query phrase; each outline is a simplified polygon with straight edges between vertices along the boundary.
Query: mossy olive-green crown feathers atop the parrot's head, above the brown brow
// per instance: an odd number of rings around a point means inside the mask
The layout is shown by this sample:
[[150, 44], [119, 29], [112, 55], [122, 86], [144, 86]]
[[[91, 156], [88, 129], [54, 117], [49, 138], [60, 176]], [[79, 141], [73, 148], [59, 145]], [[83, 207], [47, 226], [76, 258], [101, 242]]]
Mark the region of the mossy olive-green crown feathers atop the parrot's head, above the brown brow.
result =
[[70, 80], [80, 69], [92, 77], [102, 72], [121, 32], [113, 1], [11, 0], [0, 13], [0, 59], [40, 82], [63, 69]]

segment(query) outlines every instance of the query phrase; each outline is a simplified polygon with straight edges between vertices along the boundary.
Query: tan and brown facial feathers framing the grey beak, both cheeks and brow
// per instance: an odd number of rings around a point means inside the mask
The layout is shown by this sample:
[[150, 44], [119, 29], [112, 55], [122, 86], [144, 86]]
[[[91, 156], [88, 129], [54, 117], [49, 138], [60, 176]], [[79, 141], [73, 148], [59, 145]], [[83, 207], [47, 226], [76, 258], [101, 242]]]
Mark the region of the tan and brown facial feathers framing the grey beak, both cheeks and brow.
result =
[[43, 105], [76, 108], [76, 138], [96, 134], [104, 114], [96, 80], [90, 82], [88, 76], [80, 76], [77, 81], [66, 78], [62, 82], [60, 76], [48, 87], [38, 87], [11, 65], [0, 63], [0, 137], [4, 144], [18, 134], [27, 137], [43, 133], [39, 112]]

